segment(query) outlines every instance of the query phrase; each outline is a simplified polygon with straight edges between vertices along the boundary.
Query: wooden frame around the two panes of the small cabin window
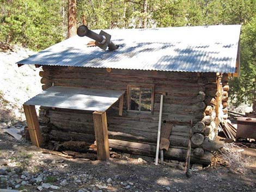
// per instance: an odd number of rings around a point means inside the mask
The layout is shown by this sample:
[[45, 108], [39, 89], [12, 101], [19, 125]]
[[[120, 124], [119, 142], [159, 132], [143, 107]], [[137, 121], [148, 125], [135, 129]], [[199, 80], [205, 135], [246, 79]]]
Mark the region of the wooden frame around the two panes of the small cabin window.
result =
[[[131, 110], [130, 109], [130, 88], [139, 88], [139, 110]], [[141, 88], [150, 88], [151, 89], [151, 110], [150, 112], [144, 112], [141, 110]], [[154, 95], [155, 95], [155, 88], [152, 84], [129, 84], [127, 85], [127, 112], [132, 113], [147, 113], [153, 114], [154, 113]]]

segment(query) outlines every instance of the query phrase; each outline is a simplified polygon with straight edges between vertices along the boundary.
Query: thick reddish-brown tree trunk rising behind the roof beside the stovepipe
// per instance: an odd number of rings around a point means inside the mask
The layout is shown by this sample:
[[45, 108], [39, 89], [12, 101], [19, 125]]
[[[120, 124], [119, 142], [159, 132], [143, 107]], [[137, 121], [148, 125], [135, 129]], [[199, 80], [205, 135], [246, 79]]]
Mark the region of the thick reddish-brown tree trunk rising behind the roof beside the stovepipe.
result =
[[76, 0], [68, 0], [68, 38], [76, 35]]

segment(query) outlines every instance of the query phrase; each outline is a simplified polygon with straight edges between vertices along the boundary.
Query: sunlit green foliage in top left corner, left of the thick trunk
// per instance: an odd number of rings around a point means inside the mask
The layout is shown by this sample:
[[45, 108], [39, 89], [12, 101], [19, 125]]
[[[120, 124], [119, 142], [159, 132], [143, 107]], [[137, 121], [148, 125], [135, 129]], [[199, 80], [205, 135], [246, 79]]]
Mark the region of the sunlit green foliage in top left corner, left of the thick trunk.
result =
[[0, 1], [0, 40], [39, 50], [63, 39], [62, 1]]

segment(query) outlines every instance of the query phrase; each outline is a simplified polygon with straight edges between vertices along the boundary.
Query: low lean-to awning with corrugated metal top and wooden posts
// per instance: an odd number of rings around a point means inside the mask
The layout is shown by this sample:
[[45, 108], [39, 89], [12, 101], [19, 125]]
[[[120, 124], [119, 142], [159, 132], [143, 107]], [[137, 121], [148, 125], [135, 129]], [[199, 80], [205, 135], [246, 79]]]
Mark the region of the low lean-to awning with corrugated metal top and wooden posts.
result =
[[33, 145], [42, 144], [35, 106], [93, 111], [94, 131], [99, 160], [109, 159], [106, 110], [119, 100], [123, 113], [124, 91], [52, 86], [23, 104], [28, 131]]

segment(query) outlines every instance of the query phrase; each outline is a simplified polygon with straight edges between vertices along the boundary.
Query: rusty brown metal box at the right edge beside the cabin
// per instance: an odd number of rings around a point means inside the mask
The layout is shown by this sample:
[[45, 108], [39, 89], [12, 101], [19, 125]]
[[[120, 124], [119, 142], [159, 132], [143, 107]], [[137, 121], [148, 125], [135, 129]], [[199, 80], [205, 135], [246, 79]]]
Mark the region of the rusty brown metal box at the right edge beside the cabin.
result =
[[256, 118], [237, 117], [237, 139], [256, 139]]

